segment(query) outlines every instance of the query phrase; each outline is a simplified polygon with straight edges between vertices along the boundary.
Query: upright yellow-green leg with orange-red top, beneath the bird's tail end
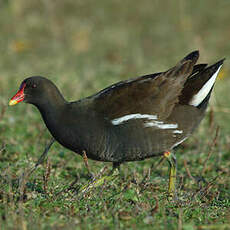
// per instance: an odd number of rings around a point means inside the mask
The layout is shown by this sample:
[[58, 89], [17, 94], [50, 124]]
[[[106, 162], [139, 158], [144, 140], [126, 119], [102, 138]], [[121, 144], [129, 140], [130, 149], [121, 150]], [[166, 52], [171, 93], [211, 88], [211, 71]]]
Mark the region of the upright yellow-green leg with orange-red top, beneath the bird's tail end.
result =
[[172, 199], [176, 196], [176, 156], [171, 152], [165, 152], [164, 157], [169, 162], [168, 198]]

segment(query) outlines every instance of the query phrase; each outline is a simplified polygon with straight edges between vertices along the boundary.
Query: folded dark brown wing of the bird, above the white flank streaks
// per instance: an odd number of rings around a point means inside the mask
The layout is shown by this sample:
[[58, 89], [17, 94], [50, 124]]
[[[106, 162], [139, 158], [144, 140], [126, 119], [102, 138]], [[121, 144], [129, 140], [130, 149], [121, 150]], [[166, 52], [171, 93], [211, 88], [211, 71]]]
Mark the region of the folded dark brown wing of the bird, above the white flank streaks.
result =
[[166, 119], [198, 57], [199, 52], [194, 51], [166, 72], [119, 82], [100, 91], [92, 97], [95, 111], [111, 121], [127, 120], [135, 114]]

